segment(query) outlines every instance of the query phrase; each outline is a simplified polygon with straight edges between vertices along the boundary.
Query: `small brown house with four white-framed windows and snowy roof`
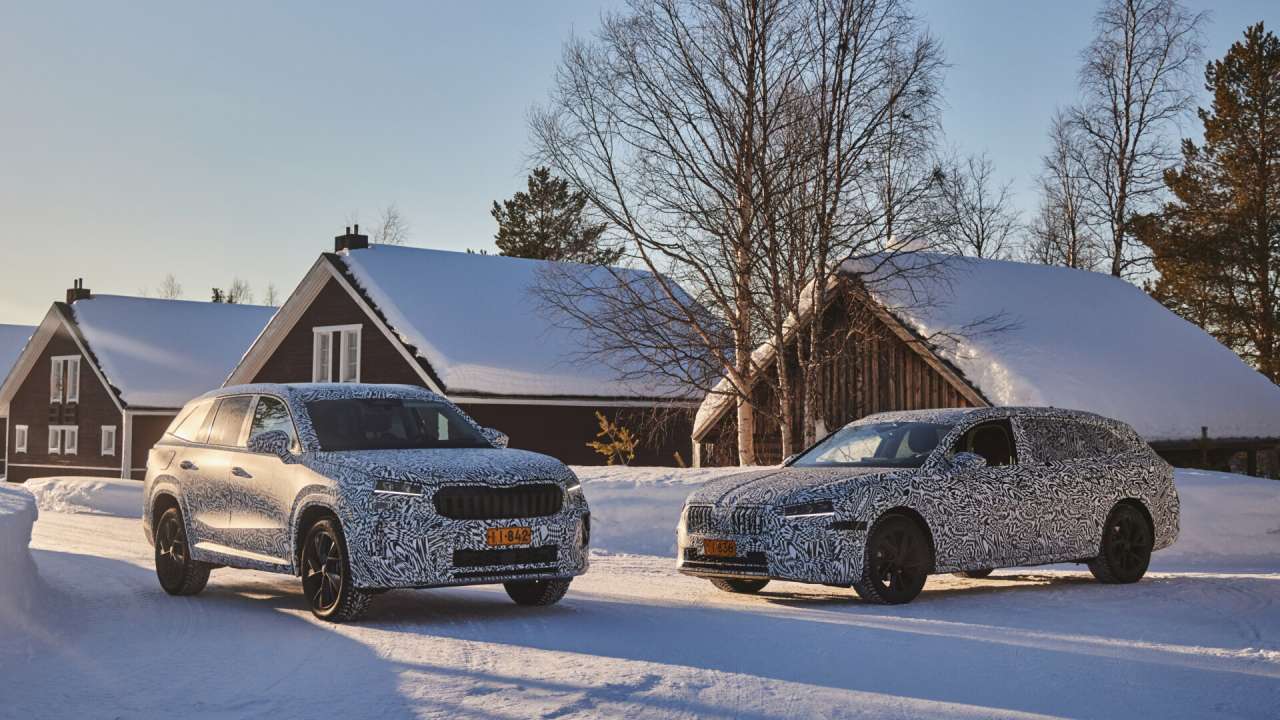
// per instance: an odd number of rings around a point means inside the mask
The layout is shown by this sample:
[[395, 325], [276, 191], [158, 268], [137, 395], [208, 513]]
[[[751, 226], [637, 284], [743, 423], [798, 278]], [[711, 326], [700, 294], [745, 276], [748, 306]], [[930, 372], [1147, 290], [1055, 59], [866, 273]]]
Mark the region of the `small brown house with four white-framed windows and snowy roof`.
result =
[[54, 302], [0, 386], [8, 479], [142, 479], [147, 451], [216, 388], [273, 307], [93, 295]]

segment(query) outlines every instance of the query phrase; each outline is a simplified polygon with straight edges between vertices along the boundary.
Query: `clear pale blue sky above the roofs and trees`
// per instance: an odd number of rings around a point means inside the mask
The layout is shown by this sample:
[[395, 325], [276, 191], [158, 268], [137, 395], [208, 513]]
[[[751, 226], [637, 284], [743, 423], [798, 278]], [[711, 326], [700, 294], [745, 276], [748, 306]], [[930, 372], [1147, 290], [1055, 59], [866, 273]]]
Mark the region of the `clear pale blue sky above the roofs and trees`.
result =
[[[490, 202], [524, 186], [526, 110], [564, 38], [614, 5], [0, 0], [0, 323], [37, 323], [76, 277], [283, 296], [388, 202], [413, 245], [492, 247]], [[1258, 19], [1280, 29], [1274, 0], [1189, 5], [1212, 12], [1207, 58]], [[988, 151], [1032, 209], [1096, 4], [916, 8], [951, 64], [950, 142]]]

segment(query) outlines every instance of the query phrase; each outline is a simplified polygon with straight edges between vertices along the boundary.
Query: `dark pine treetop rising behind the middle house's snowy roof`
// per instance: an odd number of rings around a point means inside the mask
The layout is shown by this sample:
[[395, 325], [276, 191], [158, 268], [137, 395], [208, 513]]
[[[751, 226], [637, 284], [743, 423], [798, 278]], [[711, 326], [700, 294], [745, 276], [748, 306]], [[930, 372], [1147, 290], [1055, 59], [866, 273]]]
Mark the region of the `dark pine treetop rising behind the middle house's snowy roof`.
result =
[[493, 204], [499, 254], [594, 265], [617, 263], [622, 251], [602, 246], [608, 225], [589, 223], [582, 215], [585, 208], [586, 195], [570, 192], [568, 181], [552, 177], [548, 168], [536, 168], [529, 176], [527, 191]]

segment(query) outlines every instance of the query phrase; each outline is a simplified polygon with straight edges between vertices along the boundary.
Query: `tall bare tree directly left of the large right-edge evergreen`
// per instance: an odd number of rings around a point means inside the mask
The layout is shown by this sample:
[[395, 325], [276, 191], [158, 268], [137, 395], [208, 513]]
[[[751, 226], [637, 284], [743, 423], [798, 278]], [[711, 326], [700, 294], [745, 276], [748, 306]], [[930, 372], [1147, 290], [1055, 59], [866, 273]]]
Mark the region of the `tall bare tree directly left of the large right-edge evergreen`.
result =
[[1085, 200], [1103, 225], [1112, 275], [1149, 265], [1129, 220], [1151, 208], [1176, 158], [1170, 132], [1193, 108], [1204, 19], [1178, 0], [1106, 0], [1094, 17], [1073, 119], [1087, 150]]

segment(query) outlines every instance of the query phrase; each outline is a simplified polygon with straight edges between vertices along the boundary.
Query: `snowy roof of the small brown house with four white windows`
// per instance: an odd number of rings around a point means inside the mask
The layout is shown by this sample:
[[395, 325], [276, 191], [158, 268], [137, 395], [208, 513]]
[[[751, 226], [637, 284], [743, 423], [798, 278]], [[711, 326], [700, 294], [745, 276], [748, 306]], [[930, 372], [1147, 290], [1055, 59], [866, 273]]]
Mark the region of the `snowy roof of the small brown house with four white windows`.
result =
[[133, 407], [182, 407], [223, 384], [275, 307], [93, 295], [70, 305], [106, 380]]

